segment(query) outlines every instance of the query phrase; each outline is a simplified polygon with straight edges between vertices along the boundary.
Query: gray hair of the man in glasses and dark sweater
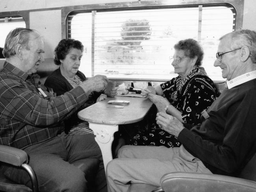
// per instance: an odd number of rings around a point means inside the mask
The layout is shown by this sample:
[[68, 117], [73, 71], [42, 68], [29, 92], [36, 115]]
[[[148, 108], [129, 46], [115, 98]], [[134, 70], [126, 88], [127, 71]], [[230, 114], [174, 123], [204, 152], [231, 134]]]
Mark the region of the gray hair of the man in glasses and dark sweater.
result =
[[231, 49], [240, 48], [247, 46], [250, 50], [250, 57], [252, 63], [256, 63], [256, 31], [252, 30], [237, 30], [231, 33], [228, 33], [220, 38], [230, 35], [231, 36]]

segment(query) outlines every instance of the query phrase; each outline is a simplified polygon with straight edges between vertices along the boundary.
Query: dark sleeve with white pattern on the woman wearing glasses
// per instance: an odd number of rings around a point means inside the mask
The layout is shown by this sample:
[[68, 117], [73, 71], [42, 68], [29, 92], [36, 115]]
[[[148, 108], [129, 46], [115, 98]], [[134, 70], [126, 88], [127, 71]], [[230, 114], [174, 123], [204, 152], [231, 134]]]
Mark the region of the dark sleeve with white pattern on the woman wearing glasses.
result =
[[187, 89], [178, 101], [178, 110], [187, 124], [200, 124], [201, 112], [207, 110], [217, 98], [217, 91], [210, 78], [194, 78], [187, 84]]

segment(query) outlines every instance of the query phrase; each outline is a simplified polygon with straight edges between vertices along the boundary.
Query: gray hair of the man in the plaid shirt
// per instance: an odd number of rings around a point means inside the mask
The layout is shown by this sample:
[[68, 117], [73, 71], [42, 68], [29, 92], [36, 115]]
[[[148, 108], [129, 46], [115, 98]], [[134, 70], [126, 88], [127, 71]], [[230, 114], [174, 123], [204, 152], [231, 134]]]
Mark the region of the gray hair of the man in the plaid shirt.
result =
[[41, 37], [41, 35], [36, 30], [28, 28], [15, 28], [14, 30], [11, 30], [6, 37], [4, 44], [4, 57], [9, 58], [16, 55], [15, 47], [17, 44], [21, 44], [29, 50], [30, 40], [37, 39], [38, 37]]

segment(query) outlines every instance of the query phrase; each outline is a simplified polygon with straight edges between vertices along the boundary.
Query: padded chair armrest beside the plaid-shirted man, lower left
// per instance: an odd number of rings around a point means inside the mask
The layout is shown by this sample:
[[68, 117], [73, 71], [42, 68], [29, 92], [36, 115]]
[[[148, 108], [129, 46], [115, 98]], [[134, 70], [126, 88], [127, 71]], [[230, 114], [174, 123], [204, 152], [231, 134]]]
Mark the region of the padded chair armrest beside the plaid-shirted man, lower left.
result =
[[28, 162], [28, 155], [23, 150], [0, 145], [0, 161], [15, 166], [21, 166], [24, 162]]

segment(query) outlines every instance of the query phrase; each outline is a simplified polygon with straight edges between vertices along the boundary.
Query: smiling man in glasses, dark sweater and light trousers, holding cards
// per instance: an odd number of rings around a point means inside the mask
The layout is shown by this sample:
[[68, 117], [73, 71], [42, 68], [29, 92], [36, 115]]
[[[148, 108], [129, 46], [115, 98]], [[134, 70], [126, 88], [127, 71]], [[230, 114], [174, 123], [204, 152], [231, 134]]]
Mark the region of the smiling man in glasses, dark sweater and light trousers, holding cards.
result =
[[189, 130], [158, 113], [157, 124], [182, 146], [123, 146], [107, 166], [109, 192], [126, 192], [131, 183], [160, 186], [170, 172], [239, 176], [256, 151], [256, 32], [224, 35], [216, 57], [214, 66], [221, 67], [228, 89], [202, 115], [202, 124]]

